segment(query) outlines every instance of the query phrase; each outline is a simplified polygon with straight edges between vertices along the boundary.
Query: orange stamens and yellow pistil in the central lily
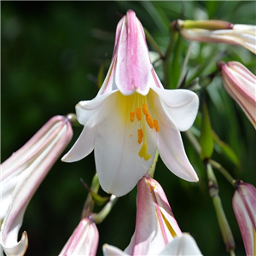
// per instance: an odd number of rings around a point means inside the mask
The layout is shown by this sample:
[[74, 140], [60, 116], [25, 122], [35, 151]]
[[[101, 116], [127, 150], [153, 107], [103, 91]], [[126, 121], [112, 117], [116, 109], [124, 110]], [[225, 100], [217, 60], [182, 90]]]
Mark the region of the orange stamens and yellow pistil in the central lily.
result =
[[[147, 137], [147, 125], [150, 129], [158, 132], [159, 131], [159, 124], [157, 119], [152, 118], [154, 117], [153, 113], [149, 113], [148, 111], [148, 101], [150, 101], [150, 97], [148, 100], [148, 96], [142, 96], [138, 93], [135, 93], [129, 99], [128, 108], [130, 109], [130, 121], [131, 123], [138, 123], [137, 129], [137, 143], [143, 143], [141, 149], [138, 152], [138, 155], [143, 158], [144, 160], [149, 160], [151, 158], [151, 154], [148, 154], [148, 137]], [[152, 104], [151, 104], [152, 106]]]

